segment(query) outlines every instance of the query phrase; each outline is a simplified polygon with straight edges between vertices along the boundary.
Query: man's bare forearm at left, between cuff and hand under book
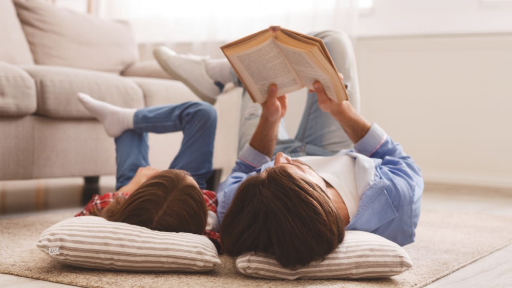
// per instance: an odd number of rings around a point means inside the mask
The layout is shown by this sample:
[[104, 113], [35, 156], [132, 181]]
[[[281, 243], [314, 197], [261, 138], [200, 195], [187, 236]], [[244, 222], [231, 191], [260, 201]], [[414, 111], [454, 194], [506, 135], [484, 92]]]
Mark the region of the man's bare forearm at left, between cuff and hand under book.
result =
[[249, 145], [265, 156], [272, 158], [275, 141], [278, 138], [280, 121], [281, 120], [267, 121], [263, 119], [263, 117], [260, 118], [260, 122], [249, 141]]

